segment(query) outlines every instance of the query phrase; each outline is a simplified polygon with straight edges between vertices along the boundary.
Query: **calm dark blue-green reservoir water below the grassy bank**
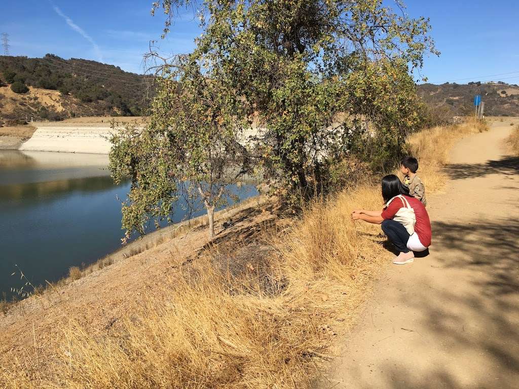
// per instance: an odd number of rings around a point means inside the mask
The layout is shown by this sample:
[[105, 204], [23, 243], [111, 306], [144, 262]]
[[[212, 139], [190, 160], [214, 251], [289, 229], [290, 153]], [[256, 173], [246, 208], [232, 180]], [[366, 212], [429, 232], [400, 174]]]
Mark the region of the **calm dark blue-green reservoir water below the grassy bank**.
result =
[[[129, 183], [114, 185], [107, 164], [106, 155], [0, 150], [0, 299], [25, 283], [20, 271], [43, 285], [120, 247], [118, 199]], [[231, 190], [241, 200], [257, 195], [253, 185]]]

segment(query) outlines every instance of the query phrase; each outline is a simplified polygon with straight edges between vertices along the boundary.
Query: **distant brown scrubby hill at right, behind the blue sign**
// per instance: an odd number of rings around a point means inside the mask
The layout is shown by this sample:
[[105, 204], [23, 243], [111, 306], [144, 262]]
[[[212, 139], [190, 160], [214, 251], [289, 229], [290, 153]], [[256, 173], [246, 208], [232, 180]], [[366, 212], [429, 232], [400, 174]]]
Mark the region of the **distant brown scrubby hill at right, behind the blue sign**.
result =
[[502, 81], [483, 84], [422, 84], [419, 96], [431, 107], [448, 109], [452, 116], [474, 113], [474, 96], [481, 94], [485, 102], [485, 116], [519, 116], [519, 86]]

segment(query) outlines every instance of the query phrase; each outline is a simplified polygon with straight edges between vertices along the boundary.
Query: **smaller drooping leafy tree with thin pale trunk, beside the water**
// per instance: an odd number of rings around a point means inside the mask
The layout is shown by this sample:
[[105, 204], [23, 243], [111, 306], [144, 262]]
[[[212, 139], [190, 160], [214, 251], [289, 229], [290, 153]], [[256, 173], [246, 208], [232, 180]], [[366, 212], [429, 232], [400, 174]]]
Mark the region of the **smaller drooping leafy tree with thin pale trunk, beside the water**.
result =
[[213, 237], [215, 208], [233, 199], [229, 185], [249, 169], [236, 121], [241, 102], [229, 80], [191, 56], [164, 72], [148, 126], [130, 125], [112, 137], [113, 177], [131, 177], [122, 205], [125, 242], [151, 219], [169, 218], [180, 196], [201, 201]]

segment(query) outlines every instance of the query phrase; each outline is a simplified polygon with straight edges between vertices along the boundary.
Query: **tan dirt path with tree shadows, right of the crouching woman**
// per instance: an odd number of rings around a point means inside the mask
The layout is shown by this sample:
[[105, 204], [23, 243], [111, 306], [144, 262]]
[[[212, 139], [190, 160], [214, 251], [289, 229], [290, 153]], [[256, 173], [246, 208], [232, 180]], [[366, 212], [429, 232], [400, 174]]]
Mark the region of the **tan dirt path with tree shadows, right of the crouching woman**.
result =
[[519, 158], [509, 123], [463, 139], [430, 198], [431, 255], [391, 266], [326, 387], [519, 387]]

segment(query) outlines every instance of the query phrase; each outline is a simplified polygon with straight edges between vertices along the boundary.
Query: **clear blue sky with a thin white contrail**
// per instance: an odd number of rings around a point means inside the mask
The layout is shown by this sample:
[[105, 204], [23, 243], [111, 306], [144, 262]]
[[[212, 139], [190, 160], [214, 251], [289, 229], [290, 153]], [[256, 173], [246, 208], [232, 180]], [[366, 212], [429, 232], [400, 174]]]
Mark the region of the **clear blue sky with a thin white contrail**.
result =
[[[182, 12], [160, 41], [163, 16], [150, 15], [146, 0], [0, 0], [0, 32], [10, 36], [11, 55], [86, 58], [143, 72], [151, 39], [163, 53], [186, 52], [200, 33], [193, 10]], [[391, 0], [385, 0], [391, 4]], [[407, 0], [412, 17], [431, 19], [442, 52], [429, 56], [421, 74], [440, 84], [457, 80], [503, 80], [519, 84], [519, 1]], [[514, 73], [512, 73], [514, 72]], [[511, 73], [511, 74], [504, 74]], [[498, 76], [499, 74], [499, 76]], [[496, 76], [494, 76], [496, 75]], [[488, 76], [488, 77], [484, 77]]]

